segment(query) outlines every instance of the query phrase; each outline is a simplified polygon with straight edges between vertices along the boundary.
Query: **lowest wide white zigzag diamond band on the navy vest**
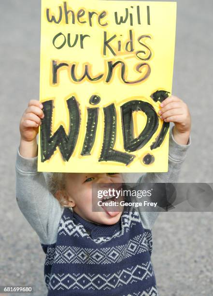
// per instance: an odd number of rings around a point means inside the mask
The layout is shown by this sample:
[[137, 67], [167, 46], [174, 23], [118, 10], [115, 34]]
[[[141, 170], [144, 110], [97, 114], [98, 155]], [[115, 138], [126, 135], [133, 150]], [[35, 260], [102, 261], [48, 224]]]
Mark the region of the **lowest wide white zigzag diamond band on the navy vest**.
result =
[[[108, 274], [52, 274], [49, 279], [48, 289], [69, 290], [111, 290], [120, 286], [127, 286], [133, 282], [144, 281], [154, 276], [151, 261], [146, 264], [132, 266]], [[147, 294], [151, 296], [152, 294]], [[155, 294], [154, 294], [155, 295]], [[144, 294], [145, 296], [145, 294]]]

